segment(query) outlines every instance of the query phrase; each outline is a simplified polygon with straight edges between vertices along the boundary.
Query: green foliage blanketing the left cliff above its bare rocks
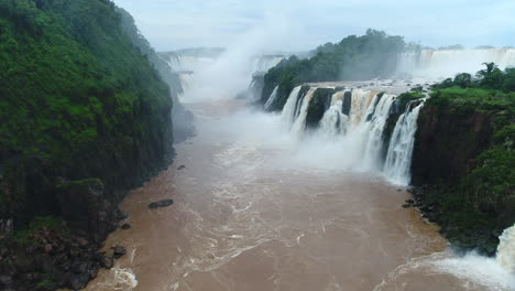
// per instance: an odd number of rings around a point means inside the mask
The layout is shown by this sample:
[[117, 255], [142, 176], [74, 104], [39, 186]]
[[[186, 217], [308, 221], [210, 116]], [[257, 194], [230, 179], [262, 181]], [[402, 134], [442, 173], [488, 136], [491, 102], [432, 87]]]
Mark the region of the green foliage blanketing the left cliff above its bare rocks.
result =
[[130, 186], [171, 149], [169, 87], [120, 13], [108, 0], [0, 1], [0, 165], [12, 164], [0, 216], [52, 208], [56, 176]]

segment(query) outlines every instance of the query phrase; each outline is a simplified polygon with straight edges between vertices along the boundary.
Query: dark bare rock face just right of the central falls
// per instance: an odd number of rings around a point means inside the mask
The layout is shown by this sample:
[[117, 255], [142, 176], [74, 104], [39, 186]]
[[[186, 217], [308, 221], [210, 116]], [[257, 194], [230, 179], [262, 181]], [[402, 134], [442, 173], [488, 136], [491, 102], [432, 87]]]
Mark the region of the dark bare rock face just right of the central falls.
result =
[[460, 115], [426, 106], [418, 118], [412, 162], [414, 185], [456, 183], [492, 143], [490, 117], [481, 111]]

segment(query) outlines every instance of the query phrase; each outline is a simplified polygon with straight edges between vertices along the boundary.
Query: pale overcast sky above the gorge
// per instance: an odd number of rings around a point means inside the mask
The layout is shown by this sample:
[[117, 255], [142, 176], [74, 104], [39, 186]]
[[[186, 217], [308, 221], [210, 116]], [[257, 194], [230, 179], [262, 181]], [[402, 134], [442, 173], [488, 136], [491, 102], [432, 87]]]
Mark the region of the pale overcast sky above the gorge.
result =
[[[515, 45], [515, 0], [114, 0], [157, 51], [261, 36], [303, 51], [368, 28], [429, 46]], [[263, 36], [266, 35], [266, 36]]]

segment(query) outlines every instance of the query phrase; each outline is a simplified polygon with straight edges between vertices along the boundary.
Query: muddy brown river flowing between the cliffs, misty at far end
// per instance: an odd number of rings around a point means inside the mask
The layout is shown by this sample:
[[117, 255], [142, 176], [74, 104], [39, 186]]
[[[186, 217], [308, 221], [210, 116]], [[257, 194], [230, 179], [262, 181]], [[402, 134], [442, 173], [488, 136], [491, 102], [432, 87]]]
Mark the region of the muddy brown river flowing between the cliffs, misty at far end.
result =
[[[240, 101], [189, 107], [197, 136], [123, 201], [132, 228], [106, 249], [128, 254], [86, 290], [507, 290], [446, 271], [447, 241], [402, 207], [405, 190], [297, 159], [269, 134], [276, 117], [232, 118]], [[163, 198], [175, 204], [149, 209]]]

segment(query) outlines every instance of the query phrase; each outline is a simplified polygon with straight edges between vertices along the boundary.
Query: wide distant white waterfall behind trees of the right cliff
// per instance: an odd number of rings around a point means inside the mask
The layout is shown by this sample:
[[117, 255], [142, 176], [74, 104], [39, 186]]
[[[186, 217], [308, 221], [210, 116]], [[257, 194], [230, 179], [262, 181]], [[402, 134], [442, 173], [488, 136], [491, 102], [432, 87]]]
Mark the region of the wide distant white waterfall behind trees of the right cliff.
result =
[[483, 63], [501, 69], [515, 66], [515, 48], [421, 50], [401, 54], [397, 74], [421, 78], [447, 78], [458, 73], [475, 73]]

